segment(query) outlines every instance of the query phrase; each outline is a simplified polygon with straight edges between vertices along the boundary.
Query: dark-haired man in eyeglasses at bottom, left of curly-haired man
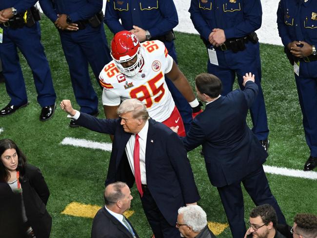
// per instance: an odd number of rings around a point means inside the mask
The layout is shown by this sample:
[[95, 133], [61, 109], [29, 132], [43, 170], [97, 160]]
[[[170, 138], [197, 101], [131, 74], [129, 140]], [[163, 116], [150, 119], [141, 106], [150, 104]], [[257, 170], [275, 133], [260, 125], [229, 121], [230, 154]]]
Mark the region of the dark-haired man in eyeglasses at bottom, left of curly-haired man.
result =
[[249, 218], [250, 228], [244, 238], [285, 238], [277, 231], [277, 215], [269, 204], [252, 209]]

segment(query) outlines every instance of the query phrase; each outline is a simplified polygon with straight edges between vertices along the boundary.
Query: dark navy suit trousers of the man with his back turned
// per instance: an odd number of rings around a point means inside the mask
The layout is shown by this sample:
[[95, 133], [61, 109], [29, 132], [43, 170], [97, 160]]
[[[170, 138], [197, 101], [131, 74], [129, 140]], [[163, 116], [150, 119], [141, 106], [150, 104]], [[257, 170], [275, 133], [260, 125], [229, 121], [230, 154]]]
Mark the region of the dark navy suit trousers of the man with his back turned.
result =
[[263, 167], [261, 166], [241, 181], [224, 187], [218, 187], [218, 193], [226, 212], [233, 238], [243, 238], [246, 233], [241, 182], [257, 206], [266, 203], [270, 204], [277, 213], [278, 223], [286, 224], [285, 217], [277, 204], [277, 200], [272, 195]]

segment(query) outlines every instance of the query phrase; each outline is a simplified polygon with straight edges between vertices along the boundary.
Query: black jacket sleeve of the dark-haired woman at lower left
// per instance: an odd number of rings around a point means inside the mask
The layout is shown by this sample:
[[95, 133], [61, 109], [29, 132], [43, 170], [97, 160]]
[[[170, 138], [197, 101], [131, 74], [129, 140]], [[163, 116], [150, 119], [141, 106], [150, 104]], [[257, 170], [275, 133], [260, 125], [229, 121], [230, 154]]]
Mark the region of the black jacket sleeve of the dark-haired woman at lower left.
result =
[[50, 191], [48, 190], [47, 184], [44, 180], [40, 169], [32, 169], [32, 172], [29, 174], [30, 185], [35, 189], [40, 199], [46, 205], [48, 198], [50, 197]]

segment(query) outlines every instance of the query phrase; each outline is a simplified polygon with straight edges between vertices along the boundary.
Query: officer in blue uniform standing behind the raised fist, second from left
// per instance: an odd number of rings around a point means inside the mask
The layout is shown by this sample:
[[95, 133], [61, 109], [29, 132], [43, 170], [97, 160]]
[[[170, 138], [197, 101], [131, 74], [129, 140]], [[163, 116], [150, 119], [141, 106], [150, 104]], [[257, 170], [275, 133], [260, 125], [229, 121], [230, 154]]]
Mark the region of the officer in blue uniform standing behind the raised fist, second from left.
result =
[[[80, 111], [97, 116], [98, 97], [89, 77], [88, 63], [99, 82], [100, 71], [111, 60], [102, 23], [102, 1], [40, 0], [40, 6], [59, 29]], [[70, 126], [78, 127], [73, 120]]]

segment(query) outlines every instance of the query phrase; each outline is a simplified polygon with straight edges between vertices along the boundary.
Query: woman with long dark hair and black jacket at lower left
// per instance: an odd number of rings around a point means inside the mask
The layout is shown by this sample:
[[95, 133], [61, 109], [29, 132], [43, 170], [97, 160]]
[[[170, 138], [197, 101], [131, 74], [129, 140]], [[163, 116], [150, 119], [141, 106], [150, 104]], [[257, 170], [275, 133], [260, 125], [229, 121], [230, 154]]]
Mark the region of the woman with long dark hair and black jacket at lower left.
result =
[[21, 215], [28, 237], [49, 238], [52, 218], [46, 211], [46, 203], [50, 192], [40, 169], [27, 164], [11, 139], [0, 140], [0, 157], [0, 182], [21, 195]]

